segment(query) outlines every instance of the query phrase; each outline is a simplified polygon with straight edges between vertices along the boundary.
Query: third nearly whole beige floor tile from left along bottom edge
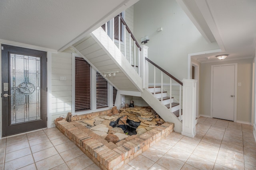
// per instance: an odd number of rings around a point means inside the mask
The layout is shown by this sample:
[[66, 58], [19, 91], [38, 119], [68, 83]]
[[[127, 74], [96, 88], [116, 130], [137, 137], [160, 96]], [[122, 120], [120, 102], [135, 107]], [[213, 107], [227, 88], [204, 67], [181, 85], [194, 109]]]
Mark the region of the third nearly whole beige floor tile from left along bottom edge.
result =
[[92, 160], [85, 154], [66, 162], [70, 170], [82, 170], [93, 164]]

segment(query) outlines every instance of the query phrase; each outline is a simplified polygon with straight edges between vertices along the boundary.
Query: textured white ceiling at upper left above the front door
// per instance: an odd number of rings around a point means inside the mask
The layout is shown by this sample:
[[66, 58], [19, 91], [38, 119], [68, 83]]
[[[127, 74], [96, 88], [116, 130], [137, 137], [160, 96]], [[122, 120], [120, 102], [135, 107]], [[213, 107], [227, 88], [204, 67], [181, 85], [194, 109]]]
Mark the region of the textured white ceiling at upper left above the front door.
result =
[[0, 0], [0, 39], [63, 51], [138, 0]]

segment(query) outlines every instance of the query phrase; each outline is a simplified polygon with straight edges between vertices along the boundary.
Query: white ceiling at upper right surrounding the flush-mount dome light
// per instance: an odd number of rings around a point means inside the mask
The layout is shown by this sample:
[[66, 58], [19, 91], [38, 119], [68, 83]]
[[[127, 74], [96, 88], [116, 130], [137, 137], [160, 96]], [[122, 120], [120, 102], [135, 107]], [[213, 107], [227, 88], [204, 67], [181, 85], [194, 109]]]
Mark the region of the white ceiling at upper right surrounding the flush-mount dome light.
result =
[[192, 58], [208, 63], [219, 61], [215, 56], [220, 54], [229, 54], [225, 60], [255, 57], [256, 0], [176, 1], [204, 38], [209, 43], [216, 41], [220, 47], [220, 52]]

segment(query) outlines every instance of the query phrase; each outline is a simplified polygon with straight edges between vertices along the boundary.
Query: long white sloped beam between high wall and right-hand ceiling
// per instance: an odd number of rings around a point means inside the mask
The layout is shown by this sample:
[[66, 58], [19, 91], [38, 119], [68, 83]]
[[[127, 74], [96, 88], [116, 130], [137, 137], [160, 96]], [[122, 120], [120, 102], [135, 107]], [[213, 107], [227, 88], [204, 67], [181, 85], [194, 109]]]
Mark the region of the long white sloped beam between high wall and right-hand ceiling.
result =
[[206, 0], [176, 0], [208, 43], [217, 42], [225, 51], [220, 33]]

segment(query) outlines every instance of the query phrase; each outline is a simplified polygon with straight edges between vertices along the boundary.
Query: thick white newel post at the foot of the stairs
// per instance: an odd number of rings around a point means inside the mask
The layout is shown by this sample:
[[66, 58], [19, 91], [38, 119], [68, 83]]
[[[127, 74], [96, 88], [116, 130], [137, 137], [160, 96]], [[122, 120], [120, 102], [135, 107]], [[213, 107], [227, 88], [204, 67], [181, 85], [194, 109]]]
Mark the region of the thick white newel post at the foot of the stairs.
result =
[[183, 82], [183, 120], [182, 135], [196, 136], [196, 82], [194, 79], [184, 79]]

